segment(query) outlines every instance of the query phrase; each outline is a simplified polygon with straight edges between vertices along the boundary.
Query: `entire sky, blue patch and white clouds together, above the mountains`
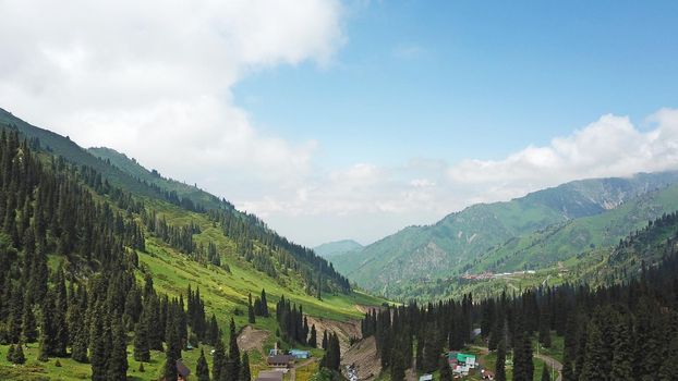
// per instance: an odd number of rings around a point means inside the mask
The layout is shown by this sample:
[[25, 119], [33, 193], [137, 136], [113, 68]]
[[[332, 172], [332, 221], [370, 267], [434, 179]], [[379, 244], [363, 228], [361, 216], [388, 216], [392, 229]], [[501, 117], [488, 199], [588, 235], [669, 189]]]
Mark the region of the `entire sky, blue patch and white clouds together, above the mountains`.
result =
[[304, 245], [678, 169], [675, 1], [0, 0], [0, 107]]

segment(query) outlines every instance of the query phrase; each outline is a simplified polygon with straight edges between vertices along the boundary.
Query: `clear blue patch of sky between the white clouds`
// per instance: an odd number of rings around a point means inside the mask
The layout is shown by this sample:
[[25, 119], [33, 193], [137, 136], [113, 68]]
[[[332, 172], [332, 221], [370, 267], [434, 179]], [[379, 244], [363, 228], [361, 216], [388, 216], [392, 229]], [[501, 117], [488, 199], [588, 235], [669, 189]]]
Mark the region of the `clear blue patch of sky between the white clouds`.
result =
[[326, 65], [247, 76], [235, 101], [323, 161], [499, 159], [604, 113], [678, 100], [678, 3], [372, 1]]

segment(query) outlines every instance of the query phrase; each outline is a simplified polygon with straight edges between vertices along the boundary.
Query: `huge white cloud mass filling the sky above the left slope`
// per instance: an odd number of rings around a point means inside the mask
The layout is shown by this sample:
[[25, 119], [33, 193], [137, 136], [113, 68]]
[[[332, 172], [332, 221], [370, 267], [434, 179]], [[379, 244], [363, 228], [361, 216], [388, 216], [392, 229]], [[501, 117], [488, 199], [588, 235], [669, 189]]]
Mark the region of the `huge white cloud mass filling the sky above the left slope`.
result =
[[230, 90], [252, 71], [326, 64], [344, 39], [338, 0], [26, 0], [0, 14], [0, 105], [15, 114], [220, 194], [308, 171], [316, 144], [262, 134]]

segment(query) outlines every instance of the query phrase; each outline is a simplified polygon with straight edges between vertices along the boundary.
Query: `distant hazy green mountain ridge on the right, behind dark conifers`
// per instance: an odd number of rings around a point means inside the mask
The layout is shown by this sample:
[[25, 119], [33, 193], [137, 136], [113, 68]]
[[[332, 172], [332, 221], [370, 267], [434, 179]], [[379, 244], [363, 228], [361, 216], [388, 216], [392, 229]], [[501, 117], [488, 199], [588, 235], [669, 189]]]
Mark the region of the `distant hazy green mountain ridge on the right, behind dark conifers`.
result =
[[[506, 202], [474, 205], [433, 225], [405, 228], [362, 250], [335, 256], [332, 262], [367, 290], [403, 296], [403, 290], [422, 280], [449, 279], [474, 268], [489, 268], [476, 260], [519, 237], [541, 231], [548, 234], [571, 221], [615, 210], [640, 195], [676, 183], [678, 172], [574, 181]], [[532, 258], [517, 256], [504, 268], [522, 269]]]

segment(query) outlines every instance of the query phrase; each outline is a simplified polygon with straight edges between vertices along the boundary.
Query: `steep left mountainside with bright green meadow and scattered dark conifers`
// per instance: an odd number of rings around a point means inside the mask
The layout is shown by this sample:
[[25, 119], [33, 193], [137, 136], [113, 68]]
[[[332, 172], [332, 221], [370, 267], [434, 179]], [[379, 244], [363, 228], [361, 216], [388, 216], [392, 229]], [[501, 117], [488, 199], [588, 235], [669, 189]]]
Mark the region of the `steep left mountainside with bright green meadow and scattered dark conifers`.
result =
[[[385, 303], [255, 216], [122, 153], [95, 157], [4, 110], [0, 131], [0, 379], [156, 380], [172, 358], [195, 369], [187, 344], [233, 347], [241, 331], [259, 337], [258, 369], [275, 342], [311, 349], [314, 322], [348, 342], [358, 306]], [[31, 366], [10, 364], [20, 341]]]

